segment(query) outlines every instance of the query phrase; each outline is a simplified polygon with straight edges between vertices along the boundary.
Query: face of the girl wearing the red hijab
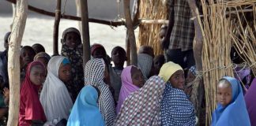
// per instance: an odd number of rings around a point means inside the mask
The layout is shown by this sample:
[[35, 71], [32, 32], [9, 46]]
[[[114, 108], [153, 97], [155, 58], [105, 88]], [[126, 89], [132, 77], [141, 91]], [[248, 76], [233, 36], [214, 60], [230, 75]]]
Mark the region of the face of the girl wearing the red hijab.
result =
[[32, 83], [35, 85], [41, 85], [43, 84], [45, 80], [45, 69], [42, 65], [35, 65], [32, 67], [30, 71], [30, 77]]

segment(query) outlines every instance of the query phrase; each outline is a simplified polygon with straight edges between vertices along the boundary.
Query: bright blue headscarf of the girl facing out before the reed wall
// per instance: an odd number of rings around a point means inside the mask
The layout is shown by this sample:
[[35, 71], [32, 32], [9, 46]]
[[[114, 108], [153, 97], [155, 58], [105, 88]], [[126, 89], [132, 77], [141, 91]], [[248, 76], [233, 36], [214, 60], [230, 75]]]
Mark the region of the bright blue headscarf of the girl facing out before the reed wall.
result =
[[226, 76], [232, 86], [232, 102], [228, 106], [221, 106], [219, 103], [213, 113], [212, 126], [250, 126], [250, 119], [247, 113], [247, 106], [243, 98], [243, 89], [238, 80]]

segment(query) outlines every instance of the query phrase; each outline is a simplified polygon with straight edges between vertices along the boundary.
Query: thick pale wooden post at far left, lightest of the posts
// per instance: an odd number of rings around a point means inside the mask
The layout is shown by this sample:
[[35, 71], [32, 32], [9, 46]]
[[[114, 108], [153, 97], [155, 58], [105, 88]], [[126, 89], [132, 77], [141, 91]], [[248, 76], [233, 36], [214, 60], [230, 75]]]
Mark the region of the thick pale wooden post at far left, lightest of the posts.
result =
[[8, 50], [9, 116], [8, 126], [18, 124], [20, 109], [20, 48], [28, 13], [28, 0], [17, 1]]

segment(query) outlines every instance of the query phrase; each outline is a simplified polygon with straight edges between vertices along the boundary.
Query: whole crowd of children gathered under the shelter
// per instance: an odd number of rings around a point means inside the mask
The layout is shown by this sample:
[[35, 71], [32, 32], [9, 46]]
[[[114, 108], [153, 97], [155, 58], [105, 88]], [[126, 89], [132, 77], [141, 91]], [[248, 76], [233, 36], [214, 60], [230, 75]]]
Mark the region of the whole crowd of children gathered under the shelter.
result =
[[[6, 35], [8, 44], [10, 33]], [[40, 44], [21, 48], [21, 126], [197, 124], [190, 102], [197, 75], [194, 66], [185, 79], [180, 65], [165, 61], [164, 55], [155, 56], [150, 46], [141, 46], [137, 66], [124, 68], [126, 50], [115, 46], [108, 57], [104, 46], [93, 44], [92, 59], [83, 67], [81, 35], [76, 28], [63, 31], [61, 55], [50, 57], [44, 51]], [[1, 70], [7, 69], [7, 53], [0, 56]], [[2, 72], [1, 117], [9, 104], [7, 71]], [[212, 125], [255, 125], [251, 102], [255, 89], [251, 87], [244, 93], [235, 78], [221, 79]]]

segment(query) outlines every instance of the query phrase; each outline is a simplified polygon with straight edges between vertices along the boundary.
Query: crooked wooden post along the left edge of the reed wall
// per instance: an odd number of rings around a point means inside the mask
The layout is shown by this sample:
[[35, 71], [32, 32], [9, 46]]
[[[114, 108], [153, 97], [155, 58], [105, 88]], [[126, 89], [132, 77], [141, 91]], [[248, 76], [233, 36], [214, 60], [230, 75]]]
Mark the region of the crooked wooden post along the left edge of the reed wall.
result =
[[[195, 38], [193, 43], [193, 51], [194, 51], [194, 60], [196, 64], [196, 68], [198, 72], [202, 71], [202, 59], [201, 59], [201, 52], [203, 47], [203, 33], [202, 33], [202, 24], [201, 24], [201, 18], [198, 12], [198, 7], [196, 5], [195, 0], [186, 0], [190, 6], [191, 12], [193, 17], [197, 17], [194, 19], [194, 29], [195, 29]], [[201, 78], [198, 78], [196, 80], [196, 83], [194, 83], [193, 90], [196, 92], [194, 95], [195, 99], [191, 99], [193, 102], [196, 102], [197, 104], [194, 106], [196, 109], [197, 117], [199, 119], [199, 125], [200, 125], [200, 119], [203, 117], [201, 115], [201, 104], [203, 102], [203, 98], [205, 95], [205, 87], [203, 84], [202, 76]]]

